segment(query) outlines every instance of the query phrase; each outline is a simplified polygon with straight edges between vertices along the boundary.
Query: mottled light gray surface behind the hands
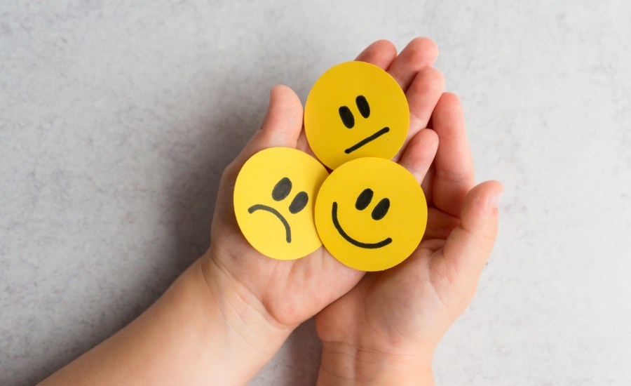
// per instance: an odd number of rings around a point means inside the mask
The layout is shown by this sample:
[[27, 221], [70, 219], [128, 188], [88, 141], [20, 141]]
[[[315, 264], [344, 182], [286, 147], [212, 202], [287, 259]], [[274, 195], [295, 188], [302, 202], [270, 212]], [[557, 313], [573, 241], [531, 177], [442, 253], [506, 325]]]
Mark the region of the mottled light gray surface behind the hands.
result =
[[[631, 2], [38, 3], [0, 4], [0, 384], [107, 338], [205, 251], [271, 86], [304, 101], [414, 36], [440, 47], [478, 180], [506, 186], [438, 383], [630, 384]], [[313, 384], [319, 349], [308, 322], [252, 385]]]

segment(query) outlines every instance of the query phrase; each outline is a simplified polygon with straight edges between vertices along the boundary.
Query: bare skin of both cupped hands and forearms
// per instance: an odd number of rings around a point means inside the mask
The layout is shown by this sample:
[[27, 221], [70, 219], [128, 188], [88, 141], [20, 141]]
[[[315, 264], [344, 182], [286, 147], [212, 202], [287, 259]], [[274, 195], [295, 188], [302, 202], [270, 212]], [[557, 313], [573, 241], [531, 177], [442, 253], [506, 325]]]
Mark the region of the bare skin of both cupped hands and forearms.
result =
[[232, 206], [241, 166], [267, 147], [313, 155], [299, 98], [276, 86], [261, 129], [222, 175], [208, 251], [149, 310], [42, 383], [243, 385], [318, 312], [321, 385], [432, 382], [434, 347], [470, 302], [493, 246], [502, 190], [498, 182], [473, 187], [462, 110], [430, 67], [436, 56], [435, 44], [419, 38], [398, 55], [376, 41], [357, 58], [387, 69], [411, 109], [395, 161], [421, 183], [430, 212], [426, 237], [406, 262], [365, 274], [325, 248], [280, 261], [247, 243]]

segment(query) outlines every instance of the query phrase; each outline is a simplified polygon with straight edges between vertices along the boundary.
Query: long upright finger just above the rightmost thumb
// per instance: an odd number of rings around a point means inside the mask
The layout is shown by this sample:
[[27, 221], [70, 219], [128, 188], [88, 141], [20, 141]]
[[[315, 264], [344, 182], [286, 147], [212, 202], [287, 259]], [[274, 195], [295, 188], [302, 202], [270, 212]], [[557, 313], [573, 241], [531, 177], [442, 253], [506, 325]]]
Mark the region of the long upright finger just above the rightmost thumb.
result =
[[467, 193], [475, 185], [473, 160], [458, 96], [442, 94], [431, 119], [439, 142], [434, 161], [434, 204], [442, 211], [457, 216], [461, 213]]

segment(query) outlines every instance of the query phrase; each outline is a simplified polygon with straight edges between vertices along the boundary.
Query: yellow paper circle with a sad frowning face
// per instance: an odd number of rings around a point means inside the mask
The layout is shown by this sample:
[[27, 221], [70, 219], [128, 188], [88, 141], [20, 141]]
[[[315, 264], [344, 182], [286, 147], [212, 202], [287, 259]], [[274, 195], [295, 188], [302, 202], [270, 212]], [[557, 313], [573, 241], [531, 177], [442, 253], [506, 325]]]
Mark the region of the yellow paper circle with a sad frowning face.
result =
[[313, 207], [327, 170], [297, 149], [271, 147], [248, 159], [234, 186], [234, 214], [257, 251], [278, 260], [304, 257], [322, 245]]

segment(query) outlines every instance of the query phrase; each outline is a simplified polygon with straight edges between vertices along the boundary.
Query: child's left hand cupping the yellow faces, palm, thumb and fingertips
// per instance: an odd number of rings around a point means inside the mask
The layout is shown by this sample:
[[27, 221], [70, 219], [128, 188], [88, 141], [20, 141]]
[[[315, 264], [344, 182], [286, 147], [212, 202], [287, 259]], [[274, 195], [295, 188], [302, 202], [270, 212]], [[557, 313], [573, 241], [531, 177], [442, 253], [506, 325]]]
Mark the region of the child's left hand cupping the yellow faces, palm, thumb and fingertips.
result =
[[[416, 39], [398, 56], [391, 43], [377, 41], [358, 57], [358, 60], [388, 69], [407, 91], [412, 109], [408, 138], [414, 139], [406, 141], [409, 142], [407, 150], [398, 158], [419, 180], [428, 170], [437, 146], [433, 131], [419, 132], [426, 127], [442, 93], [442, 75], [430, 67], [436, 56], [433, 42]], [[248, 244], [237, 225], [233, 188], [247, 159], [268, 147], [293, 147], [312, 154], [302, 130], [302, 114], [301, 102], [290, 88], [273, 88], [262, 128], [222, 176], [211, 246], [202, 260], [203, 272], [211, 289], [215, 288], [213, 291], [230, 288], [238, 294], [225, 296], [220, 306], [232, 310], [230, 312], [238, 314], [240, 319], [247, 319], [245, 324], [236, 324], [236, 328], [251, 346], [267, 354], [275, 352], [298, 324], [350, 291], [364, 274], [342, 265], [322, 247], [298, 260], [267, 258]], [[259, 329], [259, 320], [271, 326], [271, 335], [276, 336], [272, 342], [266, 338], [270, 335], [265, 332], [270, 330], [269, 326]], [[344, 331], [348, 328], [352, 326], [345, 326]]]

